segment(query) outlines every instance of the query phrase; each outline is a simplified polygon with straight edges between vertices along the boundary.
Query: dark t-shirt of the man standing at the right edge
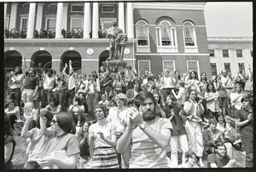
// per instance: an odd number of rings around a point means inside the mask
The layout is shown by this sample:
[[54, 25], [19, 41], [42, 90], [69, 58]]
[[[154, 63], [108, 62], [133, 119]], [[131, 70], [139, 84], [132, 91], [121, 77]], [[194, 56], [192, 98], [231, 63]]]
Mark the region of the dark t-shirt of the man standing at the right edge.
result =
[[[236, 118], [240, 118], [241, 122], [247, 120], [248, 115], [251, 112], [248, 112], [247, 109], [241, 108], [236, 113]], [[252, 116], [253, 117], [253, 116]], [[245, 124], [244, 126], [241, 126], [241, 136], [253, 136], [253, 119]]]

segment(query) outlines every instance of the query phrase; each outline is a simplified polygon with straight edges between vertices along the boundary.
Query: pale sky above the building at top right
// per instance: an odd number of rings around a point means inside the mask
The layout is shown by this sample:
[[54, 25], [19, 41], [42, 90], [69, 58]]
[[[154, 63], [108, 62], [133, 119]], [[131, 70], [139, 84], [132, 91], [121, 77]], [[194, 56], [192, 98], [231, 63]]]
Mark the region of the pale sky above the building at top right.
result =
[[207, 37], [253, 37], [253, 3], [206, 3]]

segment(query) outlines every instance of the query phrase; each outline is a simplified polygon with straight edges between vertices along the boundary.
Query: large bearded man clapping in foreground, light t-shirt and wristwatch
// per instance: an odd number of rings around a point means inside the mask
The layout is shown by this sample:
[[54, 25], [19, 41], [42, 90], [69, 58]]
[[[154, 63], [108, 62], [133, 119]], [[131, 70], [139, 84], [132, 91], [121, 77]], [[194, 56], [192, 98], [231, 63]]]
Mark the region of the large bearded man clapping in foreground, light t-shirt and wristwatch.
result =
[[154, 95], [147, 91], [135, 97], [128, 112], [124, 134], [117, 141], [117, 152], [131, 146], [130, 169], [167, 168], [166, 148], [172, 136], [172, 123], [155, 115]]

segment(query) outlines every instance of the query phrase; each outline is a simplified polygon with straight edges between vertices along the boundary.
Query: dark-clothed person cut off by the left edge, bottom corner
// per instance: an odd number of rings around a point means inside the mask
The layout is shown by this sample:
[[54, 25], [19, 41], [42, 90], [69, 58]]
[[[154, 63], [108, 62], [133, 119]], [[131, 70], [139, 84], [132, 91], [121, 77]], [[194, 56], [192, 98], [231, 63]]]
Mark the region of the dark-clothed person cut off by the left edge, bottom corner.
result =
[[15, 152], [15, 139], [13, 137], [13, 129], [9, 122], [9, 118], [6, 113], [4, 113], [4, 163], [3, 169], [13, 169], [12, 158]]

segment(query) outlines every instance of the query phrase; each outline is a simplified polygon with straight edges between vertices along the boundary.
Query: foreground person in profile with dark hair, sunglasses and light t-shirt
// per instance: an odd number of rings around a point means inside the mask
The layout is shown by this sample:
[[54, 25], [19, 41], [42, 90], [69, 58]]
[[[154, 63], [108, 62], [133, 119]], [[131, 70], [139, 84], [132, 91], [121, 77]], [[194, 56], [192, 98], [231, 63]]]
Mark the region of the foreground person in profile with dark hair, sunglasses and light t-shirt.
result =
[[[56, 113], [51, 121], [51, 129], [56, 133], [55, 138], [49, 140], [46, 156], [38, 160], [44, 169], [75, 169], [79, 160], [79, 140], [73, 118], [68, 112]], [[61, 154], [61, 158], [57, 155]]]

